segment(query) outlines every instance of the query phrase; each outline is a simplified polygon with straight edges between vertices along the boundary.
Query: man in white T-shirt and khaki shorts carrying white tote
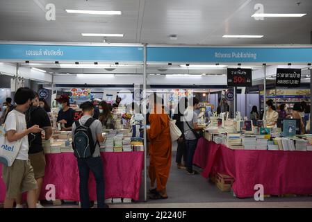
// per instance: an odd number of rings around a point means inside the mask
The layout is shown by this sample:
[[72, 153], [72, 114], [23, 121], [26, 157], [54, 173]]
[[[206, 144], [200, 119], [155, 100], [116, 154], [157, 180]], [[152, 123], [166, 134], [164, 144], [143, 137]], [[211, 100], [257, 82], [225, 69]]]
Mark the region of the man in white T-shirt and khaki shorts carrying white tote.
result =
[[19, 153], [13, 165], [6, 167], [3, 165], [3, 181], [6, 184], [6, 200], [4, 200], [5, 208], [12, 208], [14, 199], [19, 194], [27, 191], [27, 203], [29, 208], [36, 207], [36, 189], [37, 182], [33, 173], [33, 167], [28, 160], [28, 137], [29, 133], [40, 133], [42, 129], [38, 125], [26, 128], [25, 114], [31, 104], [34, 93], [29, 88], [19, 88], [15, 93], [15, 110], [8, 113], [5, 122], [6, 137], [8, 142], [22, 140]]

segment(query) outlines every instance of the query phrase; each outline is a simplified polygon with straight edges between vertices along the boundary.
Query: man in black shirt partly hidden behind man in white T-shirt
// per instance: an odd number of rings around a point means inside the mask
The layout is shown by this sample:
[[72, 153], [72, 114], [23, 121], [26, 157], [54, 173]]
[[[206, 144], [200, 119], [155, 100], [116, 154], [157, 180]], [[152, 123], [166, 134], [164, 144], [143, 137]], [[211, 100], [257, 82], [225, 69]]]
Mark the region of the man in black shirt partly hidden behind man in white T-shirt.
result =
[[[31, 126], [38, 125], [40, 128], [44, 130], [44, 139], [50, 139], [52, 135], [51, 122], [47, 112], [39, 106], [39, 96], [35, 92], [35, 98], [31, 101], [31, 106], [25, 113], [27, 128], [31, 128]], [[31, 162], [31, 166], [33, 167], [33, 172], [35, 173], [35, 180], [37, 180], [38, 190], [37, 194], [37, 208], [42, 208], [40, 205], [39, 196], [42, 188], [42, 182], [44, 178], [45, 171], [45, 157], [44, 151], [42, 147], [42, 135], [40, 133], [31, 133], [28, 135], [28, 158]], [[17, 200], [17, 204], [21, 203], [22, 200]]]

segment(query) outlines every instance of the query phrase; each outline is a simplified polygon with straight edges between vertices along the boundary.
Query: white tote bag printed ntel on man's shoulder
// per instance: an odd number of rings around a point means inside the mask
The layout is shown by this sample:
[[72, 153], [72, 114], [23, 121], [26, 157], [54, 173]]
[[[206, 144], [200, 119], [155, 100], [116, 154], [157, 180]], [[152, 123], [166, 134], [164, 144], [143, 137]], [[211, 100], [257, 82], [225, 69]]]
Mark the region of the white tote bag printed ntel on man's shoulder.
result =
[[8, 142], [8, 139], [6, 139], [6, 135], [2, 134], [0, 136], [0, 162], [7, 167], [11, 167], [17, 157], [17, 154], [19, 153], [19, 148], [21, 148], [21, 146], [22, 139], [14, 142]]

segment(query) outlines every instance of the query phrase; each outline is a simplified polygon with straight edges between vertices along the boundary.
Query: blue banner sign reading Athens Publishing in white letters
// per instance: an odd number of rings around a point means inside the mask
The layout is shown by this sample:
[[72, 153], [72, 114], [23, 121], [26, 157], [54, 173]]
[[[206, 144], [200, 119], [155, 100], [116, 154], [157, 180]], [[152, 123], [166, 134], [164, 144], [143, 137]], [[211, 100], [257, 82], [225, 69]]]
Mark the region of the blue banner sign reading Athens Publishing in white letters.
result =
[[147, 47], [148, 62], [312, 62], [312, 48]]

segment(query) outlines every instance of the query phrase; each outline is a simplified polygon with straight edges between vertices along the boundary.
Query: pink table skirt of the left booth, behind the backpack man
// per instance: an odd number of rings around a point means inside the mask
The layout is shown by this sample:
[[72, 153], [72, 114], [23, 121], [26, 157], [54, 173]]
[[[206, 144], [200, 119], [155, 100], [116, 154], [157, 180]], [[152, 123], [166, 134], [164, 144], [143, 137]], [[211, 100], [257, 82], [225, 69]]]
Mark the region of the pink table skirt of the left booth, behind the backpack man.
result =
[[[105, 198], [139, 199], [143, 152], [101, 153], [104, 164]], [[46, 185], [56, 187], [56, 198], [79, 201], [79, 169], [73, 153], [46, 154], [47, 167], [40, 198], [45, 199]], [[2, 168], [0, 164], [0, 169]], [[0, 175], [2, 175], [2, 170]], [[89, 178], [90, 200], [96, 200], [96, 185], [93, 174]], [[6, 188], [0, 180], [0, 203], [3, 202]]]

